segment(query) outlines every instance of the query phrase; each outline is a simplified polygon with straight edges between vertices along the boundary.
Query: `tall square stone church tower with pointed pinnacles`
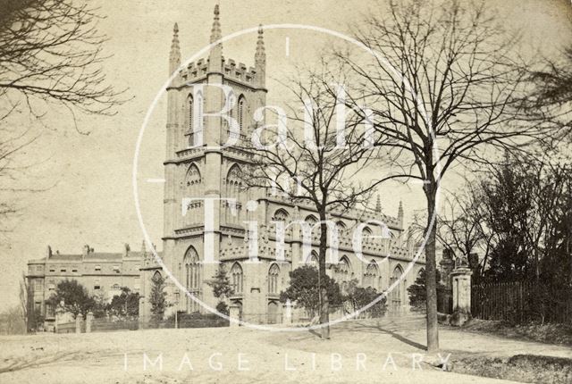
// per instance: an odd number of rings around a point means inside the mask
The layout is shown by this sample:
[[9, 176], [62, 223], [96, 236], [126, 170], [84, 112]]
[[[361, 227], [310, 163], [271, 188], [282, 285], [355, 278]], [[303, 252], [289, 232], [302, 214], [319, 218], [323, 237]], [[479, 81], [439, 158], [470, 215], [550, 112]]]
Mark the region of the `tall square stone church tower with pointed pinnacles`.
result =
[[[237, 296], [247, 294], [242, 292], [244, 287], [265, 284], [264, 281], [247, 283], [242, 280], [243, 277], [256, 280], [258, 271], [230, 271], [235, 267], [233, 258], [248, 258], [240, 253], [246, 236], [242, 221], [248, 220], [247, 201], [256, 196], [255, 192], [243, 188], [240, 176], [251, 154], [237, 147], [223, 146], [234, 135], [230, 119], [238, 123], [238, 139], [247, 140], [254, 129], [253, 113], [265, 104], [263, 29], [261, 27], [257, 33], [255, 67], [247, 68], [245, 64], [223, 56], [220, 16], [219, 5], [216, 5], [210, 36], [214, 46], [206, 61], [200, 59], [183, 68], [180, 68], [179, 28], [177, 24], [173, 28], [169, 74], [176, 72], [176, 75], [167, 89], [164, 161], [164, 263], [189, 292], [211, 307], [216, 306], [217, 300], [206, 281], [212, 279], [219, 262], [231, 267], [227, 272], [232, 276], [240, 275], [240, 281], [233, 280]], [[228, 97], [223, 88], [230, 89]], [[228, 113], [222, 114], [225, 103], [232, 106]], [[198, 146], [201, 138], [202, 145]], [[212, 206], [206, 204], [204, 198], [211, 198]], [[236, 199], [237, 204], [226, 200], [229, 198]], [[205, 213], [212, 220], [207, 220]], [[237, 252], [225, 254], [226, 259], [221, 260], [222, 245]], [[215, 263], [205, 263], [210, 247]], [[250, 267], [256, 269], [257, 265], [245, 266]], [[239, 268], [242, 268], [240, 264]], [[181, 292], [180, 297], [178, 310], [205, 312], [186, 294]]]

